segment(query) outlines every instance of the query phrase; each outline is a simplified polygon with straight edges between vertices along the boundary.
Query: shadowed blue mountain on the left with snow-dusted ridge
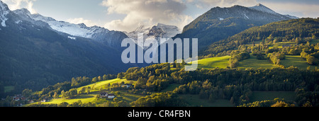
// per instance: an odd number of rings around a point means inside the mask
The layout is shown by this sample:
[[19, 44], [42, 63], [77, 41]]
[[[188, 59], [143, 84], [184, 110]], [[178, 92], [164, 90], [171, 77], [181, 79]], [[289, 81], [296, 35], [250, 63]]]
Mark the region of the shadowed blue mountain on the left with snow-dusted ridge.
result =
[[137, 64], [121, 61], [124, 33], [55, 21], [0, 1], [0, 85], [40, 89], [77, 76], [117, 74]]

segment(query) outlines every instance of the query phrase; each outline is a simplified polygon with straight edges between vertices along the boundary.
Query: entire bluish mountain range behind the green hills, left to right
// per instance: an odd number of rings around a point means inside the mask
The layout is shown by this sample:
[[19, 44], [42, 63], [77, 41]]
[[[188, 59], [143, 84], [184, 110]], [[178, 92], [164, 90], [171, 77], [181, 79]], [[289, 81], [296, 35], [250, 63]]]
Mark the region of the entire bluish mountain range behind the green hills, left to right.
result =
[[294, 19], [258, 4], [257, 6], [215, 7], [186, 25], [141, 25], [133, 32], [99, 26], [67, 23], [26, 8], [11, 11], [0, 1], [0, 85], [40, 89], [77, 76], [117, 74], [145, 64], [123, 64], [121, 41], [159, 38], [198, 38], [200, 54], [209, 45], [247, 28]]

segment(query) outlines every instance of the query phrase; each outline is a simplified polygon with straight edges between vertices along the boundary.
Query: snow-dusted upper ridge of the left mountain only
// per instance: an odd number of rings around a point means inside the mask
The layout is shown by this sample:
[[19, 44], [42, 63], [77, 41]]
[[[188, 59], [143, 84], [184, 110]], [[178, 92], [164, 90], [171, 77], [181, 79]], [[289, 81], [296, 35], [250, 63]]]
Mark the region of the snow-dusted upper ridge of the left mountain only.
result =
[[[21, 23], [22, 21], [28, 21], [35, 25], [45, 26], [59, 33], [65, 33], [67, 34], [66, 38], [69, 37], [72, 40], [77, 40], [76, 38], [88, 38], [119, 49], [121, 48], [121, 41], [124, 38], [128, 38], [127, 35], [120, 31], [108, 30], [99, 26], [87, 27], [84, 23], [74, 24], [65, 21], [56, 21], [54, 18], [45, 17], [38, 13], [31, 14], [26, 8], [17, 9], [15, 11], [8, 9], [6, 12], [3, 10], [3, 6], [6, 6], [6, 4], [1, 3], [0, 14], [1, 24], [4, 27], [6, 27], [5, 21], [8, 20], [4, 15], [10, 12], [13, 16], [16, 16], [14, 18], [16, 24], [23, 24]], [[4, 12], [6, 12], [6, 14], [4, 14]]]

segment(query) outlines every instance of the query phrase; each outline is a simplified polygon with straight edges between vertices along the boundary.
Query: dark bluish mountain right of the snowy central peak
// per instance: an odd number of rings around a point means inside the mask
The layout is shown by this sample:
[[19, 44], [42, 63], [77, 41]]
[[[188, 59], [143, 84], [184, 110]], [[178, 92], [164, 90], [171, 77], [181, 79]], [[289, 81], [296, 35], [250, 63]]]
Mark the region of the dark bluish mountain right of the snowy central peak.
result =
[[183, 32], [174, 38], [198, 38], [199, 52], [203, 52], [213, 42], [226, 39], [247, 28], [293, 18], [296, 17], [281, 15], [262, 4], [252, 7], [215, 7], [186, 25]]

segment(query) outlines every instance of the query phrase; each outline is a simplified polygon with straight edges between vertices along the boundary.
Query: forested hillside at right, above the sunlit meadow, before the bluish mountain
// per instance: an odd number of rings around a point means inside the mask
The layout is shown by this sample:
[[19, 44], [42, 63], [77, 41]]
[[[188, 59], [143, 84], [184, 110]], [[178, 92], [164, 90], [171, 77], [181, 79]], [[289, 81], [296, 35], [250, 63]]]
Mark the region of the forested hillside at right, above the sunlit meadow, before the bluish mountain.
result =
[[[279, 21], [249, 28], [228, 39], [213, 43], [202, 55], [226, 55], [231, 50], [239, 49], [240, 45], [259, 44], [267, 45], [269, 42], [301, 43], [308, 38], [313, 40], [319, 37], [319, 19], [301, 18], [289, 21]], [[306, 42], [305, 42], [306, 44]]]

